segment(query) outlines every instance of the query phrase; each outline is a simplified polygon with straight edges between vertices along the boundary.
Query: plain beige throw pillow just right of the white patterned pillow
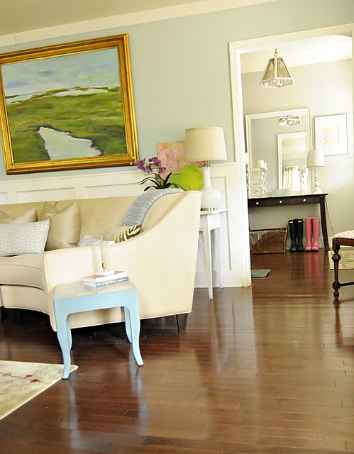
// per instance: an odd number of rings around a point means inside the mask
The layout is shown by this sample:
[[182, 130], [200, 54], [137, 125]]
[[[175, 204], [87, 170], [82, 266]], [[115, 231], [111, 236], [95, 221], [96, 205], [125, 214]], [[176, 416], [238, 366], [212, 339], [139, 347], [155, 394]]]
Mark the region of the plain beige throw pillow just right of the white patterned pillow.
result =
[[45, 202], [40, 213], [40, 221], [50, 220], [47, 244], [45, 250], [74, 248], [79, 242], [79, 206], [77, 201], [58, 210], [55, 205]]

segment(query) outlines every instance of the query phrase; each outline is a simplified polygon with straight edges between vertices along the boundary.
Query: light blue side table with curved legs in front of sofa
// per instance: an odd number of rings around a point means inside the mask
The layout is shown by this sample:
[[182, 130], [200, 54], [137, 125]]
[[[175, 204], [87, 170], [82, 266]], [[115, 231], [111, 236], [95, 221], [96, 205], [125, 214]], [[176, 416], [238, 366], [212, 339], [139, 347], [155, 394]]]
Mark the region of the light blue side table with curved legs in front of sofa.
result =
[[139, 347], [140, 318], [138, 297], [133, 283], [128, 281], [103, 287], [87, 287], [82, 282], [60, 284], [55, 287], [54, 297], [55, 322], [57, 324], [57, 339], [62, 349], [64, 370], [62, 378], [69, 377], [70, 350], [72, 335], [70, 329], [70, 314], [94, 311], [95, 309], [111, 309], [123, 307], [126, 320], [126, 335], [133, 345], [133, 354], [138, 365], [144, 364]]

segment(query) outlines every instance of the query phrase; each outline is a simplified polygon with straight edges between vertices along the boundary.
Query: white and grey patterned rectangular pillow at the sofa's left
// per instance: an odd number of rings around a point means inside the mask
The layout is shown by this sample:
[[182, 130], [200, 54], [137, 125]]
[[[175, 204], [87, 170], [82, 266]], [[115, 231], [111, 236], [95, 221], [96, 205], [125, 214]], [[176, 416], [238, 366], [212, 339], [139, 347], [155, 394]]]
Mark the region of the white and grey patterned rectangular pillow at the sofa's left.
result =
[[26, 224], [0, 224], [0, 255], [43, 253], [48, 231], [48, 219]]

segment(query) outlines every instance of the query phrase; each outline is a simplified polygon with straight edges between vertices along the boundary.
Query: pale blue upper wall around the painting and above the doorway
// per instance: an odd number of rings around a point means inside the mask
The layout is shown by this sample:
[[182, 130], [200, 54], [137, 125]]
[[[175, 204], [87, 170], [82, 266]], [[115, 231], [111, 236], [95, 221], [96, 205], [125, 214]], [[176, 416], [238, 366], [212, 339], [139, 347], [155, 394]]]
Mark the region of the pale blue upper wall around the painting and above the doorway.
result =
[[[279, 0], [241, 9], [143, 23], [1, 48], [10, 52], [41, 45], [128, 33], [140, 156], [155, 155], [156, 143], [183, 140], [192, 126], [223, 126], [228, 161], [234, 160], [228, 43], [267, 35], [354, 22], [353, 0]], [[87, 175], [117, 169], [5, 175], [31, 179]], [[123, 168], [124, 170], [124, 168]]]

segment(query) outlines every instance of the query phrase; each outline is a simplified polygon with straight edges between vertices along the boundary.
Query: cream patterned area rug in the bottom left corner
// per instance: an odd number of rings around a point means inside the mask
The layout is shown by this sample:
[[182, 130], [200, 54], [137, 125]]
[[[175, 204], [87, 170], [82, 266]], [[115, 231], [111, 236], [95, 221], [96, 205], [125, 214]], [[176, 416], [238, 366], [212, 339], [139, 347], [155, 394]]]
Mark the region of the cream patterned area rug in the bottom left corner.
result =
[[[72, 365], [70, 372], [76, 370]], [[61, 364], [0, 360], [0, 419], [62, 378]]]

